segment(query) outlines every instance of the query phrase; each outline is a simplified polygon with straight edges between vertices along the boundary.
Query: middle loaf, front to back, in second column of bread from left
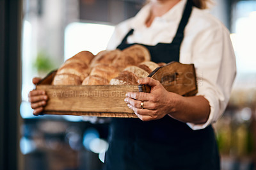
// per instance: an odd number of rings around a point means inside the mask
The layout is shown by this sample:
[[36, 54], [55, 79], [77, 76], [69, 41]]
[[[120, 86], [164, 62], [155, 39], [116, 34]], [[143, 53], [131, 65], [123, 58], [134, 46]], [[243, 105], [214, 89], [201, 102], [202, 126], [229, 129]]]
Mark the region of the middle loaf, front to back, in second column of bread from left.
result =
[[97, 75], [98, 77], [104, 77], [110, 81], [111, 79], [118, 76], [118, 68], [113, 65], [99, 64], [95, 65], [90, 72], [90, 75]]

